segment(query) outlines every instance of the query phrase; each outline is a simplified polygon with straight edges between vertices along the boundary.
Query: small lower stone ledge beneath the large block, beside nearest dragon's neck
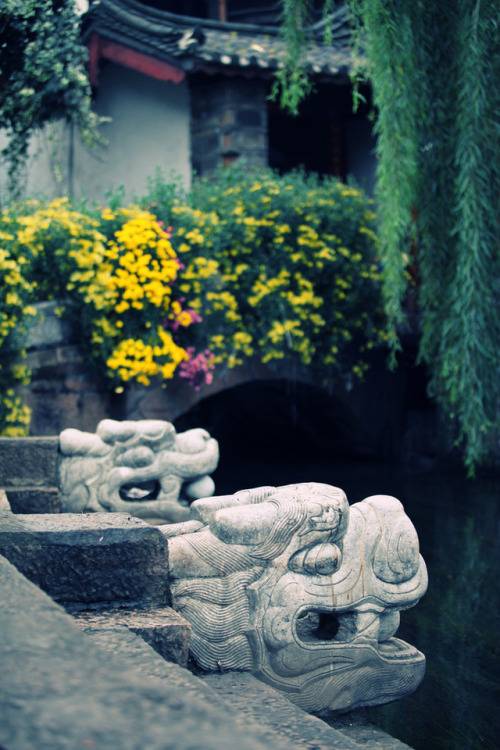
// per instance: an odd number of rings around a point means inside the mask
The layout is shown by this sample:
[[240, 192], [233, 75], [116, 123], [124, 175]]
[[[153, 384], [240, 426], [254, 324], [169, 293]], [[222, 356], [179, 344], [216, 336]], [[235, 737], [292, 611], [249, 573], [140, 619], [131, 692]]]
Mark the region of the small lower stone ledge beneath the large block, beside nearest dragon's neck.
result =
[[140, 635], [167, 661], [181, 667], [187, 665], [191, 626], [170, 607], [87, 611], [74, 617], [86, 633], [96, 630], [117, 632], [126, 627]]

